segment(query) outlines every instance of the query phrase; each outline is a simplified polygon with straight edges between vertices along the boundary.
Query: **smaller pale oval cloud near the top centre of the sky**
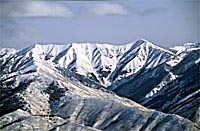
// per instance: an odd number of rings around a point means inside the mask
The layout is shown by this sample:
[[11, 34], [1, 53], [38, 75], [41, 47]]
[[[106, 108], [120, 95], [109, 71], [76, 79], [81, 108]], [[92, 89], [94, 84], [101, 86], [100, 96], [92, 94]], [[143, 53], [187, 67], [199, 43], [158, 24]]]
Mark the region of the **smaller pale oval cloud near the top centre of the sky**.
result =
[[96, 15], [128, 15], [128, 10], [117, 3], [102, 3], [97, 4], [93, 8], [90, 9], [91, 13]]

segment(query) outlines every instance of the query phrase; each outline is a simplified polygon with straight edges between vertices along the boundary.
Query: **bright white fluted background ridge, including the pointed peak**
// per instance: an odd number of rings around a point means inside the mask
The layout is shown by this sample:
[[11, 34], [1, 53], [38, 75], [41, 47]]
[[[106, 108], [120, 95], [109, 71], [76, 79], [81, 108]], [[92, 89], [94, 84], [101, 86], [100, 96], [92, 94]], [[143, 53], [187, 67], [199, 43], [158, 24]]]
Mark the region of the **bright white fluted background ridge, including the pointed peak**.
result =
[[174, 56], [173, 52], [144, 39], [123, 46], [95, 43], [36, 44], [31, 52], [34, 57], [52, 61], [104, 86], [113, 82], [122, 84], [124, 77], [133, 78], [133, 74], [153, 69]]

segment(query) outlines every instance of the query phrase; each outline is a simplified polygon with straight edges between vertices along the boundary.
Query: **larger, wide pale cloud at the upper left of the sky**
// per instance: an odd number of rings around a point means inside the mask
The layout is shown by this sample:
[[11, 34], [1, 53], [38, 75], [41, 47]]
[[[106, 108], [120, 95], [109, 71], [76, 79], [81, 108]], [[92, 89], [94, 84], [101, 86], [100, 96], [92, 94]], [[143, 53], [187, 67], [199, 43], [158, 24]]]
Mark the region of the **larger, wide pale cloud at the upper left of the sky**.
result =
[[2, 2], [1, 17], [71, 17], [73, 12], [61, 3], [45, 1]]

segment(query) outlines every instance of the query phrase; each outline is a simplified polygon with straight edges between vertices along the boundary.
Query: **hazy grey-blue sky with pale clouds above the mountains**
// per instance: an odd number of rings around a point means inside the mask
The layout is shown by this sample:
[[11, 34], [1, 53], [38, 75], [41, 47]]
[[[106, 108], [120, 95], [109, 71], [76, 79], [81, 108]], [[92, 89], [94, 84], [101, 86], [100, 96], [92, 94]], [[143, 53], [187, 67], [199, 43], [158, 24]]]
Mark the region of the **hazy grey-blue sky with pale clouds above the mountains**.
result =
[[1, 47], [34, 43], [126, 44], [145, 38], [170, 47], [200, 42], [200, 0], [0, 2]]

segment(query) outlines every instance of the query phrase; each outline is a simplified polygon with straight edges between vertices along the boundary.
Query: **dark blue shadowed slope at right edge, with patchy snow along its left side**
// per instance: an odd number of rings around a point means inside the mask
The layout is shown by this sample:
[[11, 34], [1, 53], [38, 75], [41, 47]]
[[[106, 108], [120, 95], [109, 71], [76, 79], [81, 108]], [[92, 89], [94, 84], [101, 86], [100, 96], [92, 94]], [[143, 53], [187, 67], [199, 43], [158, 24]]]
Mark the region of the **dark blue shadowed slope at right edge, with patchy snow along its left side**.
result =
[[141, 104], [181, 115], [200, 126], [200, 50], [189, 52], [176, 66], [171, 63], [166, 63], [167, 75]]

